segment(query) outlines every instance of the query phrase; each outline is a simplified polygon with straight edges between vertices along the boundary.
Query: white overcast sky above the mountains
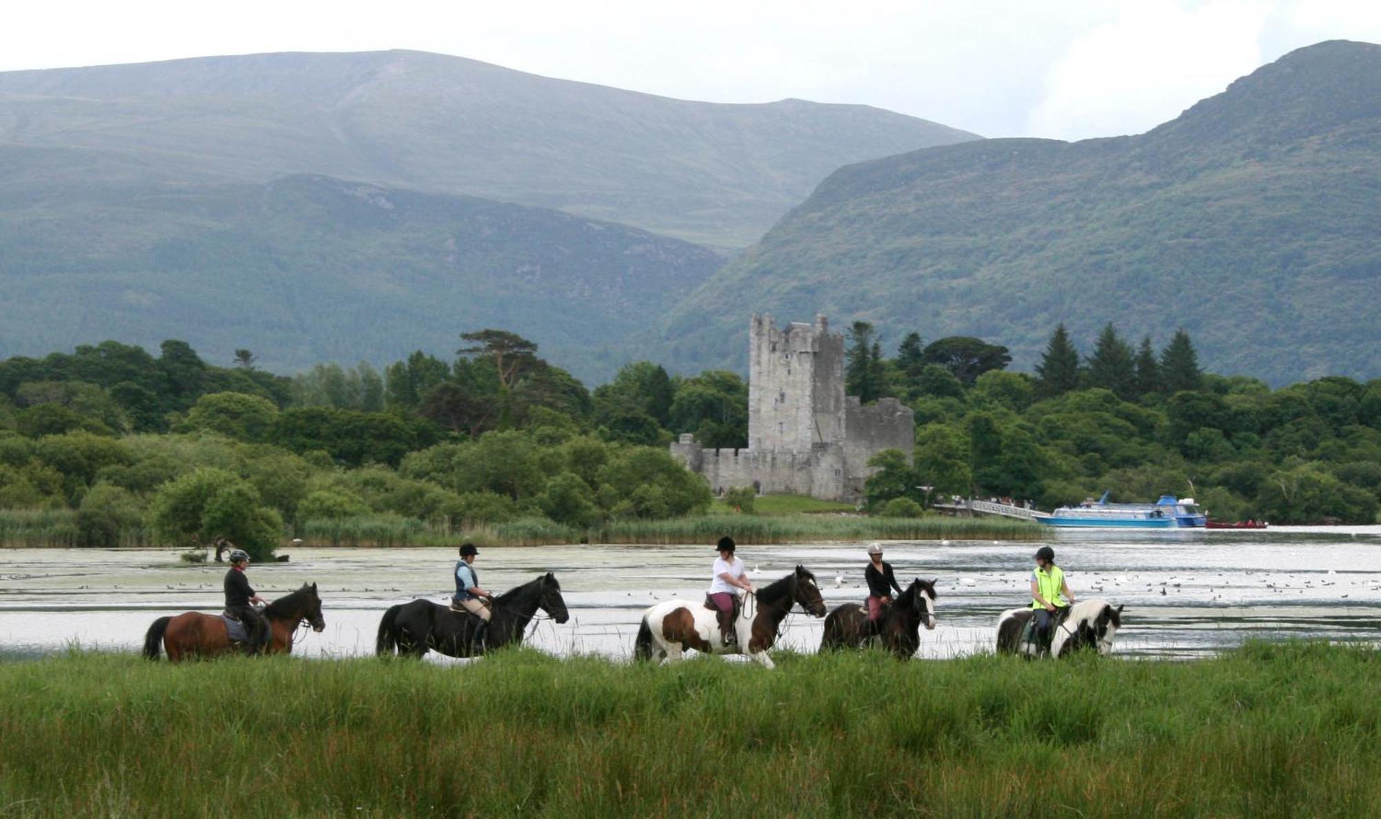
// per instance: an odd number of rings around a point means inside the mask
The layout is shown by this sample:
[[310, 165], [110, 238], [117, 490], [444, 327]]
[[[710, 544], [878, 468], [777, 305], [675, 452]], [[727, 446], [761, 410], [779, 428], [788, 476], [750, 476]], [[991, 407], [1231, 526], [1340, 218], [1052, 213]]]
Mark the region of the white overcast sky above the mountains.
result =
[[715, 102], [856, 102], [985, 136], [1135, 134], [1381, 0], [46, 0], [0, 70], [416, 48]]

